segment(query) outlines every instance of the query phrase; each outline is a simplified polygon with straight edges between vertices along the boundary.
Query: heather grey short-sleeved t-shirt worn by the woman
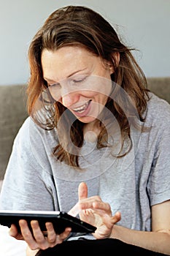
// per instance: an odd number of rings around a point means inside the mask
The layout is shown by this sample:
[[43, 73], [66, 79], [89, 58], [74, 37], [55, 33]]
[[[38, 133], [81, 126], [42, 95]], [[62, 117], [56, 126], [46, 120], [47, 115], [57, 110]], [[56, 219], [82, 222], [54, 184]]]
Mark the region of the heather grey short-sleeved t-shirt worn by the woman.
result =
[[121, 212], [117, 225], [149, 231], [150, 206], [170, 199], [170, 105], [150, 95], [144, 127], [151, 129], [131, 129], [133, 148], [123, 158], [116, 158], [112, 148], [84, 143], [83, 170], [57, 161], [52, 156], [55, 129], [42, 129], [28, 117], [15, 138], [0, 208], [69, 211], [77, 203], [80, 181], [85, 181], [89, 197], [99, 195], [112, 214]]

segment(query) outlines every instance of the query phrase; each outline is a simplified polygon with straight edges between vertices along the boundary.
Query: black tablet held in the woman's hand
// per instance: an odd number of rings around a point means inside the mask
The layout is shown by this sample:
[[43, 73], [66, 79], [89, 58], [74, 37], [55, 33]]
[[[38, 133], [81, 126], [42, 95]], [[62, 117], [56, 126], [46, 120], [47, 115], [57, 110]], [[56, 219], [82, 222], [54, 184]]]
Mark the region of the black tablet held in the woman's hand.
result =
[[55, 233], [62, 233], [66, 227], [72, 227], [75, 233], [93, 233], [96, 227], [72, 217], [64, 211], [0, 211], [0, 225], [10, 227], [15, 224], [20, 232], [19, 220], [26, 219], [31, 230], [31, 220], [38, 220], [39, 227], [46, 231], [45, 222], [52, 222]]

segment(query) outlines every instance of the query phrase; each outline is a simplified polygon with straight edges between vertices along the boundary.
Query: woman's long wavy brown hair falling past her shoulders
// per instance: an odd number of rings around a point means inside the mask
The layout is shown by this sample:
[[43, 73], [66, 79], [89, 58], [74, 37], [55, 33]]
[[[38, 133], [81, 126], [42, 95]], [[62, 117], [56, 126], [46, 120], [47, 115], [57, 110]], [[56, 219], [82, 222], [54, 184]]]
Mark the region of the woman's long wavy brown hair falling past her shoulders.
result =
[[[54, 148], [53, 153], [61, 162], [64, 161], [72, 166], [79, 166], [78, 154], [69, 153], [69, 150], [63, 145], [70, 146], [70, 139], [73, 144], [80, 148], [83, 143], [83, 126], [79, 120], [74, 120], [74, 116], [69, 110], [61, 105], [60, 102], [53, 101], [48, 94], [47, 84], [43, 79], [41, 56], [42, 50], [58, 50], [67, 45], [78, 45], [86, 48], [90, 53], [99, 56], [104, 61], [109, 61], [115, 67], [115, 72], [111, 75], [114, 82], [114, 99], [109, 97], [106, 107], [112, 112], [120, 126], [122, 142], [125, 138], [130, 139], [130, 124], [128, 117], [131, 116], [131, 122], [136, 126], [136, 118], [134, 110], [131, 106], [135, 106], [139, 115], [139, 120], [144, 121], [143, 113], [147, 107], [147, 80], [142, 72], [142, 69], [136, 63], [134, 56], [131, 53], [131, 48], [128, 48], [120, 42], [115, 29], [97, 12], [82, 6], [63, 7], [53, 12], [45, 21], [39, 31], [32, 39], [28, 50], [28, 58], [30, 64], [30, 80], [28, 82], [28, 113], [37, 121], [34, 109], [36, 101], [41, 98], [45, 105], [51, 108], [46, 108], [50, 111], [49, 118], [46, 118], [45, 128], [58, 128], [58, 121], [62, 115], [62, 138], [60, 143]], [[120, 62], [116, 65], [114, 53], [120, 54]], [[43, 98], [43, 91], [47, 92], [49, 100]], [[123, 89], [129, 96], [122, 97], [120, 89]], [[47, 103], [47, 104], [46, 104]], [[128, 107], [127, 107], [128, 106]], [[123, 109], [127, 110], [127, 113]], [[107, 133], [106, 127], [101, 121], [101, 133], [98, 136], [97, 147], [108, 146], [104, 143], [104, 136]], [[41, 121], [39, 121], [41, 124]], [[69, 130], [69, 127], [71, 129]], [[130, 147], [131, 148], [131, 145]], [[129, 150], [129, 149], [128, 149]], [[125, 152], [125, 154], [127, 154]], [[120, 154], [122, 157], [124, 154]]]

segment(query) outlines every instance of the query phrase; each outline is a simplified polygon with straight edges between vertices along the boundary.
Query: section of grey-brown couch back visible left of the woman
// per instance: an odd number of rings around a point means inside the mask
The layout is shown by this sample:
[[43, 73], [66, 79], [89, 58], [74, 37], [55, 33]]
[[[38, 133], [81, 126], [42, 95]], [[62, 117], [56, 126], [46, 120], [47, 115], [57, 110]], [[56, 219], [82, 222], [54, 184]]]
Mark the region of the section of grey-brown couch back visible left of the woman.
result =
[[4, 178], [15, 135], [26, 116], [26, 86], [0, 86], [0, 180]]

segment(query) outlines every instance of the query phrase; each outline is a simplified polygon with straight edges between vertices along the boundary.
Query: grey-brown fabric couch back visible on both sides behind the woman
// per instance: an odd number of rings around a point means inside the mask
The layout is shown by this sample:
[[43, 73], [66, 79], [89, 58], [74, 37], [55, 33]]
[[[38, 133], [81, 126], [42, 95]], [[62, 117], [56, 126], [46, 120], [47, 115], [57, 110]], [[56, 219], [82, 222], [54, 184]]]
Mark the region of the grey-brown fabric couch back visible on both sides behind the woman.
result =
[[[170, 103], [170, 77], [147, 81], [148, 89]], [[26, 85], [0, 86], [0, 189], [13, 140], [27, 116]]]

